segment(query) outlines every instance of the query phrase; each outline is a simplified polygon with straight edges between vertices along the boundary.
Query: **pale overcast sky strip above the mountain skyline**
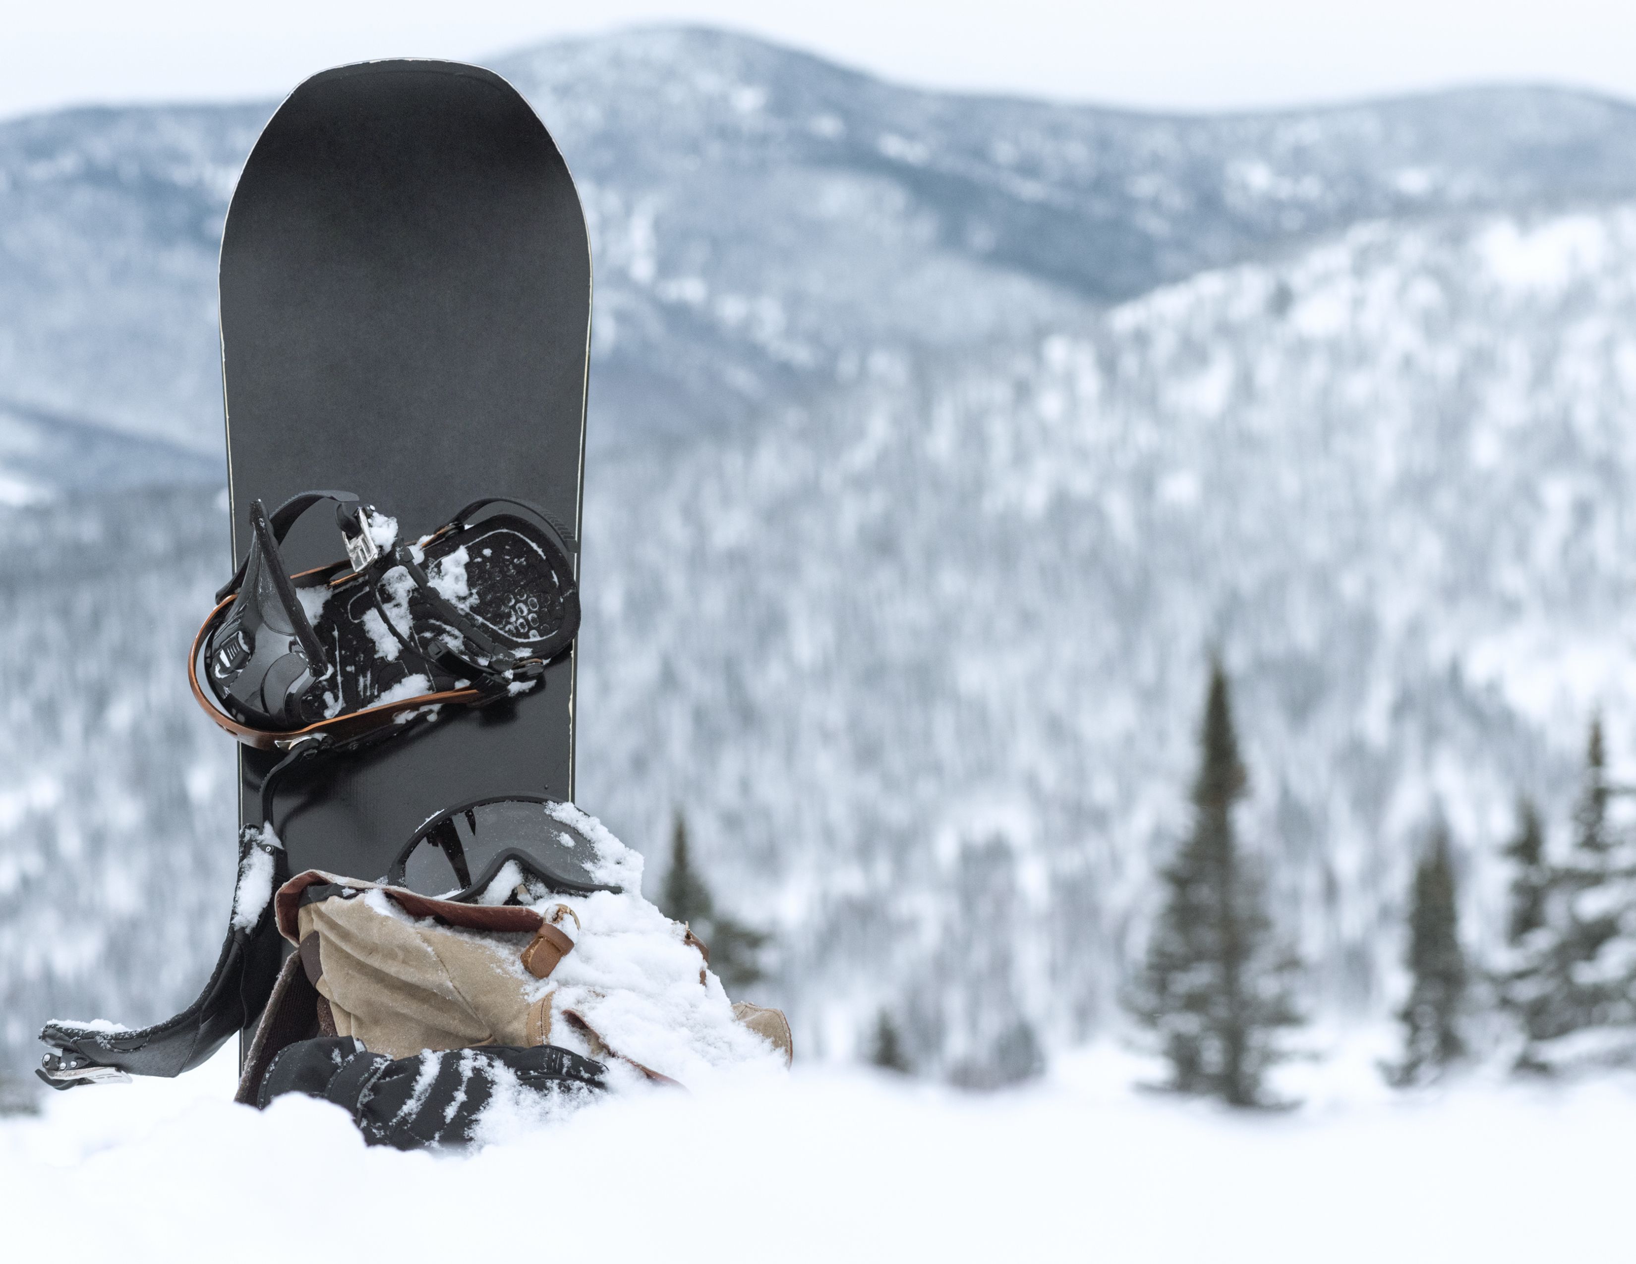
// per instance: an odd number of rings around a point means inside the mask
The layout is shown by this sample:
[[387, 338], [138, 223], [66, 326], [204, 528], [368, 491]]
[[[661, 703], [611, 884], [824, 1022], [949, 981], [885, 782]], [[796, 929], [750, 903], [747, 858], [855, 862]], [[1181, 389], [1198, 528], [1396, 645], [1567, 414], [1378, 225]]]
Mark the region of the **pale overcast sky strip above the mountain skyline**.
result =
[[1148, 108], [1495, 80], [1636, 100], [1631, 0], [0, 0], [0, 116], [276, 96], [365, 57], [483, 61], [551, 36], [679, 21], [911, 83]]

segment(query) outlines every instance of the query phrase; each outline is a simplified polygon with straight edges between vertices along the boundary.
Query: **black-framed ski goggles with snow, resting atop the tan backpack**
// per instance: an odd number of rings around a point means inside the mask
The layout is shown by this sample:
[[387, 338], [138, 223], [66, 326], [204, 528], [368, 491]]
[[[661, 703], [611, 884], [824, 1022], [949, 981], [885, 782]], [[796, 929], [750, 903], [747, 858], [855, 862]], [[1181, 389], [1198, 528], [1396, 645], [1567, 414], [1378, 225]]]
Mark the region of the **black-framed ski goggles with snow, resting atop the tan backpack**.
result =
[[507, 862], [563, 894], [618, 891], [596, 880], [597, 849], [555, 813], [568, 805], [507, 795], [448, 808], [427, 821], [393, 860], [389, 886], [434, 899], [483, 894]]

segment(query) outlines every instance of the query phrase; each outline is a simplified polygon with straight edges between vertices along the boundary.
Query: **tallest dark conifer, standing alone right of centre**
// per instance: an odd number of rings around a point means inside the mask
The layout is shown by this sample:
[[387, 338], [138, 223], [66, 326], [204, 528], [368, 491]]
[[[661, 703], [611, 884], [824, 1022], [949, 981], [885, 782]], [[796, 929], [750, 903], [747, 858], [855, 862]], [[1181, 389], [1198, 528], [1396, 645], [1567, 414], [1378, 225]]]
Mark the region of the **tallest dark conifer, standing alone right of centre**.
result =
[[1261, 883], [1234, 831], [1247, 778], [1216, 661], [1199, 746], [1193, 831], [1163, 872], [1166, 903], [1132, 1009], [1160, 1038], [1170, 1087], [1265, 1105], [1266, 1071], [1284, 1056], [1278, 1033], [1299, 1022], [1291, 994], [1299, 966], [1273, 940]]

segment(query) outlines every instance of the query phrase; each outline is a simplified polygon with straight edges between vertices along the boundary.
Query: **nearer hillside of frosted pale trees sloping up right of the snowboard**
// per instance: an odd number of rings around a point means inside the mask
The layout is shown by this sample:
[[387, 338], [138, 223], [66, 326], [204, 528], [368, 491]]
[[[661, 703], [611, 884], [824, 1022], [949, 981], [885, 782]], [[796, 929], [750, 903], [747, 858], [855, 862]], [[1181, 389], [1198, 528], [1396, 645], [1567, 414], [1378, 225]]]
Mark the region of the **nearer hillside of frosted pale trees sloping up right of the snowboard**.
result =
[[733, 840], [808, 1015], [869, 996], [955, 1056], [1009, 997], [1070, 1040], [1184, 827], [1219, 649], [1315, 999], [1381, 1009], [1433, 813], [1492, 948], [1515, 796], [1561, 821], [1592, 710], [1636, 719], [1633, 406], [1636, 208], [1364, 224], [883, 363], [592, 504], [586, 788]]

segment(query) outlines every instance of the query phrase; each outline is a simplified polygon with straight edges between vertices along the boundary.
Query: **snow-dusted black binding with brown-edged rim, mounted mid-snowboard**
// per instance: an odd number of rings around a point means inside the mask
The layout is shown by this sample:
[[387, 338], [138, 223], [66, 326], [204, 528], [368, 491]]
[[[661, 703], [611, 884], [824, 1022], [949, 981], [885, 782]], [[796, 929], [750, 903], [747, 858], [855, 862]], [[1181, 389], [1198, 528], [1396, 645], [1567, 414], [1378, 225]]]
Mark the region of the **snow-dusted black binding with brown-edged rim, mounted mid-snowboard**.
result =
[[[296, 520], [335, 504], [344, 561], [286, 574]], [[538, 522], [478, 510], [506, 502]], [[193, 641], [193, 697], [240, 742], [355, 747], [445, 705], [525, 693], [579, 630], [571, 536], [488, 497], [414, 543], [350, 492], [250, 505], [250, 548]]]

